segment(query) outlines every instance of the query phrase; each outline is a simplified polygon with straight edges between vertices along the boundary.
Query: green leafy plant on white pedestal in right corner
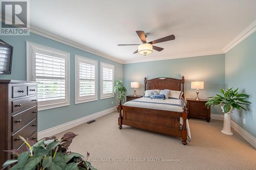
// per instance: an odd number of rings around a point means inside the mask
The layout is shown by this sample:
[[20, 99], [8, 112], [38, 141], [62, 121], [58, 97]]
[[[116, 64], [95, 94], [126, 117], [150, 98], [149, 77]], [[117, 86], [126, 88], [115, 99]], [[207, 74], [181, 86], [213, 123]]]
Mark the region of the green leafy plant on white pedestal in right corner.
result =
[[250, 105], [250, 102], [247, 100], [249, 98], [249, 95], [244, 93], [239, 93], [237, 88], [236, 90], [232, 90], [232, 88], [227, 89], [226, 91], [222, 88], [220, 94], [216, 94], [215, 97], [210, 97], [210, 100], [205, 103], [205, 106], [208, 108], [212, 106], [216, 106], [221, 104], [221, 109], [224, 113], [224, 124], [223, 129], [221, 132], [225, 135], [233, 135], [231, 132], [231, 126], [230, 126], [230, 114], [233, 112], [234, 109], [240, 110], [243, 109], [246, 111], [246, 109], [241, 105]]

